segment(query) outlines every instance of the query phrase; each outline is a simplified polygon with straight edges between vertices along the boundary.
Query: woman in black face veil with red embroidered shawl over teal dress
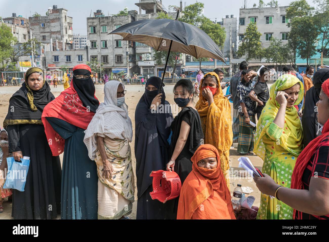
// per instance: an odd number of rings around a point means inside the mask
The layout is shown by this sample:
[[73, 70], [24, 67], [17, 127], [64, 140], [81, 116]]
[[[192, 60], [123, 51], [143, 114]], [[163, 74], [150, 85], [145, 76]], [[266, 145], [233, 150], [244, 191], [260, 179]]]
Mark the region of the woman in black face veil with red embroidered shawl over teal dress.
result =
[[42, 113], [53, 155], [64, 151], [61, 219], [97, 219], [97, 167], [83, 142], [84, 131], [99, 105], [90, 74], [89, 66], [75, 66], [70, 87]]

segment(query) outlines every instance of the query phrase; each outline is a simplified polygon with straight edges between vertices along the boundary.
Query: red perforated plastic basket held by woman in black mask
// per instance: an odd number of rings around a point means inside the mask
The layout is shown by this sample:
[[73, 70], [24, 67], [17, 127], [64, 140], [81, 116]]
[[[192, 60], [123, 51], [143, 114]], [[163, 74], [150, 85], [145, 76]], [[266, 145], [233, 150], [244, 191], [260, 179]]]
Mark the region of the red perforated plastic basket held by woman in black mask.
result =
[[181, 192], [182, 183], [176, 172], [152, 171], [150, 176], [153, 177], [153, 192], [150, 192], [151, 198], [158, 199], [160, 202], [177, 198]]

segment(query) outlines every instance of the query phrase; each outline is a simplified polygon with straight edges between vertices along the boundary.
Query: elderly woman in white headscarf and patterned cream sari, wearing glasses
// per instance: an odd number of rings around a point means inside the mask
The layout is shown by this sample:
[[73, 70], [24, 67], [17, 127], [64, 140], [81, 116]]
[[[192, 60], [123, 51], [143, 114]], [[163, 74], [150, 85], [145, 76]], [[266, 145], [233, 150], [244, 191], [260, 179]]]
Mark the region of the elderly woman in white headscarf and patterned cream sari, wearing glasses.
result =
[[132, 123], [124, 101], [124, 85], [109, 81], [102, 102], [88, 128], [84, 142], [89, 158], [97, 164], [98, 219], [129, 219], [135, 182], [131, 161]]

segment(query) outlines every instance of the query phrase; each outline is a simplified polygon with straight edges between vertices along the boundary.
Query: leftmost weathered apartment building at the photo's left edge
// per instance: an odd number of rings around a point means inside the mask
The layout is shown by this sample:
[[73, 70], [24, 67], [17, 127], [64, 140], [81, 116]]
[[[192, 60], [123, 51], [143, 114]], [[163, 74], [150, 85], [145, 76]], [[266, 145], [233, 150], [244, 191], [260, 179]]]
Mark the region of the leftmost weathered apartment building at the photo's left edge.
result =
[[3, 23], [12, 29], [13, 36], [17, 38], [18, 43], [25, 43], [30, 39], [27, 18], [16, 17], [16, 13], [13, 13], [12, 17], [3, 18]]

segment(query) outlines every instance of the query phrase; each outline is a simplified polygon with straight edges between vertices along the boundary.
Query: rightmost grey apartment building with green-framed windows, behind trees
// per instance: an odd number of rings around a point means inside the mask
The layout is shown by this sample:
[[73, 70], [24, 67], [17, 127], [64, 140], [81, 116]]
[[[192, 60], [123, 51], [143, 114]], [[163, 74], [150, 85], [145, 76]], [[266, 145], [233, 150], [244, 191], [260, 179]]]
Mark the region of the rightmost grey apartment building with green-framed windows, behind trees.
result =
[[288, 19], [286, 10], [289, 6], [240, 9], [239, 17], [239, 43], [243, 41], [244, 33], [250, 22], [256, 22], [258, 31], [262, 34], [262, 47], [267, 48], [270, 38], [282, 40], [283, 44], [288, 43]]

